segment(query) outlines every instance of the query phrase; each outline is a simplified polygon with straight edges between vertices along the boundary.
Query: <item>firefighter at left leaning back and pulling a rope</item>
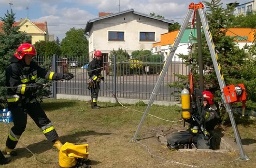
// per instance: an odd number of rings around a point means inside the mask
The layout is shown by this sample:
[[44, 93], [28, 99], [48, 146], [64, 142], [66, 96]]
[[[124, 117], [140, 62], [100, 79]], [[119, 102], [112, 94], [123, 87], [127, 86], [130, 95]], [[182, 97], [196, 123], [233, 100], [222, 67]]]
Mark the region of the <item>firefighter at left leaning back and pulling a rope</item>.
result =
[[62, 74], [47, 71], [32, 61], [34, 56], [36, 56], [34, 46], [23, 43], [11, 57], [10, 64], [6, 68], [5, 84], [10, 87], [7, 90], [7, 102], [9, 110], [12, 112], [14, 126], [6, 140], [5, 151], [11, 156], [17, 155], [14, 148], [26, 128], [27, 114], [34, 120], [48, 141], [53, 142], [55, 148], [60, 149], [62, 146], [51, 121], [34, 95], [38, 88], [43, 87], [42, 84], [36, 83], [36, 78], [70, 80], [74, 76], [71, 73]]

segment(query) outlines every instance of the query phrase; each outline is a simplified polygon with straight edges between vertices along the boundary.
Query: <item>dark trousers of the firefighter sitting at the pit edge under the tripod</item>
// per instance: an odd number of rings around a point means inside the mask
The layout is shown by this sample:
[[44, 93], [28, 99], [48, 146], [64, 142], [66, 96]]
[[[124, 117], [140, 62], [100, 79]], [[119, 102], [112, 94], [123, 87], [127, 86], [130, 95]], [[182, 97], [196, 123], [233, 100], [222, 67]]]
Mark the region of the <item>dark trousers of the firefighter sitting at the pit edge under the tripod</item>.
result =
[[186, 131], [175, 132], [167, 136], [167, 141], [171, 148], [178, 148], [179, 144], [194, 143], [198, 149], [210, 149], [209, 140], [204, 139], [202, 132], [192, 133], [189, 129]]

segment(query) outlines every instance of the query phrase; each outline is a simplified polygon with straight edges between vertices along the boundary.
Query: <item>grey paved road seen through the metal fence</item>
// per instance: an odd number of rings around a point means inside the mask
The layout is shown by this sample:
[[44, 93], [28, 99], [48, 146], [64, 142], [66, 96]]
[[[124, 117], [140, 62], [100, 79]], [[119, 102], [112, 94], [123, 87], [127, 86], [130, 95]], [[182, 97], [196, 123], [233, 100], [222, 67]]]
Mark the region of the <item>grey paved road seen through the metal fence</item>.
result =
[[[113, 81], [106, 81], [108, 88], [113, 91]], [[117, 81], [116, 95], [120, 98], [134, 98], [134, 99], [149, 99], [156, 82], [120, 82]], [[104, 82], [101, 82], [100, 96], [112, 96], [111, 92]], [[157, 93], [156, 100], [170, 101], [174, 100], [171, 93], [178, 91], [176, 88], [169, 88], [167, 83], [162, 83]], [[75, 95], [90, 95], [87, 89], [86, 81], [63, 81], [58, 82], [59, 94], [75, 94]]]

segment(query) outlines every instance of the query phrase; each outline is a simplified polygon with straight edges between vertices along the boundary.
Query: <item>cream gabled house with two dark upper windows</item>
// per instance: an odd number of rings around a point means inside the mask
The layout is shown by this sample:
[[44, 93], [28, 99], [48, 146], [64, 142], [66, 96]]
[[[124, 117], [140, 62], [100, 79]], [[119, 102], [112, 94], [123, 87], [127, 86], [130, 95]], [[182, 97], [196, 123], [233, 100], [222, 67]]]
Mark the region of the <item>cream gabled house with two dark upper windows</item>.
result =
[[[102, 14], [102, 13], [101, 13]], [[136, 50], [151, 50], [152, 44], [160, 41], [160, 35], [168, 32], [173, 20], [140, 13], [129, 9], [91, 19], [87, 22], [89, 57], [100, 50], [108, 61], [111, 51], [122, 48], [130, 55]]]

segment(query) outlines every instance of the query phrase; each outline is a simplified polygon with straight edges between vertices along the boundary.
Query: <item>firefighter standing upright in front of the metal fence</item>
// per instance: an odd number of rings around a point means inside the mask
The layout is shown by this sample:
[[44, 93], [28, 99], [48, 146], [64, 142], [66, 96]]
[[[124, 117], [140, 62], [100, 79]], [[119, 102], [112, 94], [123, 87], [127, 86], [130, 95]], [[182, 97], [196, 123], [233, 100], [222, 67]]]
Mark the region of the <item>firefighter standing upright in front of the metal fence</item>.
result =
[[102, 53], [97, 50], [94, 52], [94, 58], [88, 65], [88, 89], [91, 90], [91, 107], [92, 109], [100, 109], [97, 105], [98, 94], [100, 89], [100, 80], [104, 81], [104, 77], [101, 76], [102, 64]]

